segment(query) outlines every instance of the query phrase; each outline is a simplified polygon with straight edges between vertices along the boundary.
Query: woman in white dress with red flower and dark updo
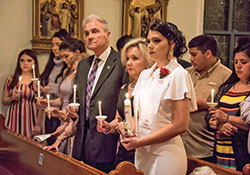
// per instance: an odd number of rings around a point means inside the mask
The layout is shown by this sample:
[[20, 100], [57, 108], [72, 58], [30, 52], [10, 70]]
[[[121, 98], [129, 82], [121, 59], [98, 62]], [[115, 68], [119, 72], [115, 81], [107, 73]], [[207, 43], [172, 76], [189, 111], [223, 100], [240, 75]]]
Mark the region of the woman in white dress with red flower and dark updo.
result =
[[197, 108], [192, 80], [176, 59], [187, 51], [186, 41], [168, 22], [152, 25], [147, 40], [155, 65], [140, 74], [133, 92], [137, 133], [121, 142], [136, 149], [135, 165], [145, 175], [184, 175], [187, 158], [180, 134]]

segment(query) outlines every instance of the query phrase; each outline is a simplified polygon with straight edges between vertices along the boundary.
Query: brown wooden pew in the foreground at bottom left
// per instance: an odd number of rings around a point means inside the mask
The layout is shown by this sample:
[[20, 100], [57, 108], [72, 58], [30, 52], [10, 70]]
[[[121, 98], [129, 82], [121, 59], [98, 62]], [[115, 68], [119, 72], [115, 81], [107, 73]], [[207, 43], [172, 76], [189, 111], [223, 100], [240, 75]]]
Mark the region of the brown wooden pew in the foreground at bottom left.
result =
[[[4, 175], [107, 175], [60, 152], [44, 151], [43, 145], [4, 129], [0, 115], [0, 174]], [[110, 175], [143, 175], [130, 162], [122, 162]]]

